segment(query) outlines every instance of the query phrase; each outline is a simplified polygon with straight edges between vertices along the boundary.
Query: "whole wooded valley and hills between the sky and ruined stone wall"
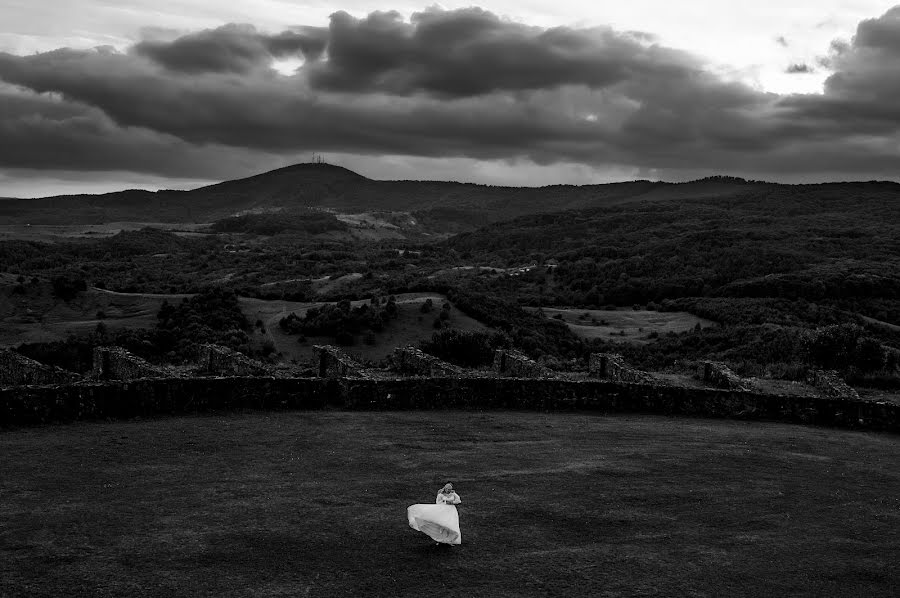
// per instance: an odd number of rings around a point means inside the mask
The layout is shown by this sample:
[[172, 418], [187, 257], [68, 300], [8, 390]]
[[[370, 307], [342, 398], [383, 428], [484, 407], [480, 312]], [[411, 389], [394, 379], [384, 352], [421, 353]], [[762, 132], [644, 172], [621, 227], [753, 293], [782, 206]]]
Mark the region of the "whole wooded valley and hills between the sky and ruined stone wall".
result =
[[[744, 376], [827, 366], [900, 388], [892, 183], [511, 188], [299, 164], [189, 192], [4, 201], [0, 216], [0, 343], [39, 355], [121, 341], [177, 361], [197, 336], [291, 364], [340, 338], [378, 363], [398, 345], [473, 333], [564, 370], [609, 351], [666, 375], [714, 359]], [[164, 302], [209, 289], [233, 299], [159, 328]], [[380, 323], [354, 315], [389, 297], [396, 312]], [[427, 298], [450, 317], [418, 311]], [[237, 328], [204, 327], [222, 301]], [[342, 301], [324, 328], [306, 321]]]

